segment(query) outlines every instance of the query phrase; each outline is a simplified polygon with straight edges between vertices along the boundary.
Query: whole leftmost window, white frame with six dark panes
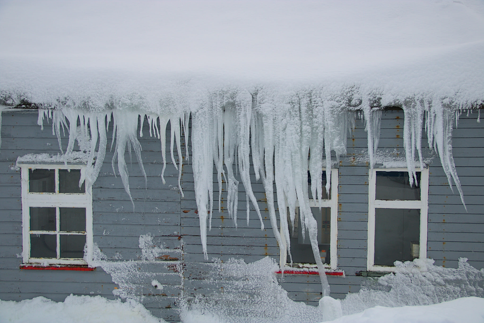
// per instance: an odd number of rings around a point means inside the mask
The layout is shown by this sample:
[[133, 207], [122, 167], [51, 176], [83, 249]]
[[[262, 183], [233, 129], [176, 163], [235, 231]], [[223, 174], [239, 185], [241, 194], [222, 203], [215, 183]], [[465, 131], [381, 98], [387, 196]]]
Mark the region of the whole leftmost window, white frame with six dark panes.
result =
[[21, 167], [24, 263], [85, 264], [85, 246], [92, 253], [92, 195], [84, 183], [79, 188], [81, 169]]

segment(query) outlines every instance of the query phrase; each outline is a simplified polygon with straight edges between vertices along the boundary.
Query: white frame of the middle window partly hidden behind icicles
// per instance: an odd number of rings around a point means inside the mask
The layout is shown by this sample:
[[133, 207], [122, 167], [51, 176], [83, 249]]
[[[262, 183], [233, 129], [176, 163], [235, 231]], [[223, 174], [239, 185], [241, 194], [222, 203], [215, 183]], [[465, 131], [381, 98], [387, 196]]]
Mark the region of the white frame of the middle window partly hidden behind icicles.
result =
[[[323, 171], [326, 171], [323, 168]], [[320, 200], [320, 204], [316, 199], [309, 199], [309, 206], [310, 207], [329, 207], [331, 209], [331, 216], [330, 216], [330, 264], [325, 265], [325, 268], [329, 269], [336, 269], [337, 262], [338, 262], [338, 254], [337, 254], [337, 240], [338, 240], [338, 169], [332, 168], [331, 169], [331, 199]], [[323, 187], [324, 189], [324, 187]], [[296, 207], [299, 207], [299, 201], [296, 201]], [[282, 229], [282, 228], [281, 228]], [[282, 235], [281, 231], [281, 235]], [[281, 268], [287, 266], [287, 251], [281, 253], [279, 257]], [[304, 265], [304, 264], [302, 264]], [[306, 264], [304, 267], [316, 267], [316, 264]]]

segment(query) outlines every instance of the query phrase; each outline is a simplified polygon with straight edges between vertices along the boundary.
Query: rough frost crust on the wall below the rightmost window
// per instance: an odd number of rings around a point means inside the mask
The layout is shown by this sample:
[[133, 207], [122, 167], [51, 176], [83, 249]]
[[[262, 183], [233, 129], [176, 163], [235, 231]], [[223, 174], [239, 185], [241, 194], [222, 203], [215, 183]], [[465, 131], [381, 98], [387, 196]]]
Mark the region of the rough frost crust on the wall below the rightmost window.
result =
[[342, 301], [343, 314], [375, 306], [431, 305], [459, 297], [484, 297], [484, 269], [460, 258], [457, 268], [434, 266], [432, 259], [395, 262], [395, 274], [378, 278]]

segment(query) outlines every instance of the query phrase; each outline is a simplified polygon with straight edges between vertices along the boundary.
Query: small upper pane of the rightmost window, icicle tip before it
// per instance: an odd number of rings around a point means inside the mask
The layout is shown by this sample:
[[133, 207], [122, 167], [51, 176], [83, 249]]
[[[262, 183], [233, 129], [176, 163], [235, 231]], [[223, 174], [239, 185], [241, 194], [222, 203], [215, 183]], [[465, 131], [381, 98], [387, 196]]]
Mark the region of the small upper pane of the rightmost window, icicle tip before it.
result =
[[377, 200], [420, 200], [420, 172], [417, 172], [419, 186], [410, 186], [408, 172], [377, 172]]

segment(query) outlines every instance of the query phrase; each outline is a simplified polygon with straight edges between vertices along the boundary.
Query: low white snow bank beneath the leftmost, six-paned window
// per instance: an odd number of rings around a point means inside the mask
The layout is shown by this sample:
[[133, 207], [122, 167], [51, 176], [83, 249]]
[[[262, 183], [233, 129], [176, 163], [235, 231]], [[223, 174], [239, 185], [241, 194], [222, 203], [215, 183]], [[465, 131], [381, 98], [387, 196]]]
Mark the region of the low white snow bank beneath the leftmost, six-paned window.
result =
[[159, 323], [166, 322], [151, 315], [133, 300], [109, 300], [102, 296], [71, 294], [63, 302], [43, 296], [20, 302], [0, 301], [0, 322], [15, 323]]

